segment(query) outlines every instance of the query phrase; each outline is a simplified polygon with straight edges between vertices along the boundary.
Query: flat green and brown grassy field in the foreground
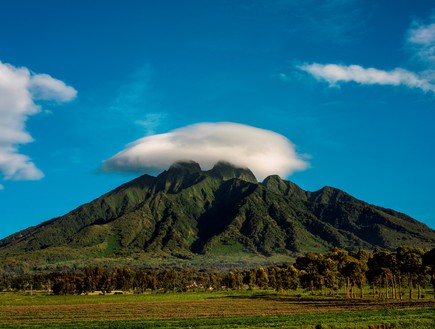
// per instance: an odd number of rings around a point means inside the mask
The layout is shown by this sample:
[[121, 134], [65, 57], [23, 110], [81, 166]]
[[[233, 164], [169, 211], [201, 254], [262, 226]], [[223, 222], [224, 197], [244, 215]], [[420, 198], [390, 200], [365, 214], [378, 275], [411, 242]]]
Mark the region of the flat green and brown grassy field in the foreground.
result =
[[[384, 325], [384, 327], [381, 327]], [[272, 291], [0, 294], [0, 328], [435, 328], [435, 300], [297, 297]]]

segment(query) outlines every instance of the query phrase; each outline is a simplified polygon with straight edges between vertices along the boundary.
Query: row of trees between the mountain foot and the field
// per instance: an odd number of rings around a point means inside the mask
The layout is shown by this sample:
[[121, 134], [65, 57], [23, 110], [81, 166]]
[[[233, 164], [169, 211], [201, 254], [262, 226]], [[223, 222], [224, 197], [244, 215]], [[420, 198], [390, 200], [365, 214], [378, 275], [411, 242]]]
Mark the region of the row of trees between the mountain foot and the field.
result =
[[[128, 266], [0, 277], [2, 291], [36, 291], [84, 294], [132, 291], [188, 291], [303, 288], [311, 294], [364, 298], [370, 286], [373, 298], [412, 299], [423, 297], [423, 289], [435, 291], [435, 248], [424, 250], [402, 246], [396, 251], [376, 249], [328, 253], [308, 252], [294, 264], [260, 266], [249, 270], [140, 269]], [[434, 294], [435, 297], [435, 294]]]

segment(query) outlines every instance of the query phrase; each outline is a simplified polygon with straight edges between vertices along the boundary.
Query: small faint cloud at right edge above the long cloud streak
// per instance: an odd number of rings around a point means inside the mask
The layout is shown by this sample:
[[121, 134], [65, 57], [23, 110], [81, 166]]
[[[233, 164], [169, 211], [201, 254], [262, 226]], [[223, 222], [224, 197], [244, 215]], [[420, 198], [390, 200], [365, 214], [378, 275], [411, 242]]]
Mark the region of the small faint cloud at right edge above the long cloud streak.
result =
[[[431, 17], [435, 21], [435, 17]], [[424, 62], [435, 62], [435, 22], [422, 24], [414, 21], [406, 41], [417, 57]]]

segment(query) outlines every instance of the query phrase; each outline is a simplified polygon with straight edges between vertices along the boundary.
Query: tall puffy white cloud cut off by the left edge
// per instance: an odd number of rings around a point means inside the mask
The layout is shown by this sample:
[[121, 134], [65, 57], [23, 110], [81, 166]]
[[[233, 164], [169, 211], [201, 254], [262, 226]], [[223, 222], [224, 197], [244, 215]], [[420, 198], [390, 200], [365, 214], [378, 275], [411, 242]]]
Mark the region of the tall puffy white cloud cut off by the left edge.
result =
[[30, 115], [41, 111], [34, 100], [67, 102], [77, 91], [47, 74], [0, 61], [0, 173], [4, 179], [35, 180], [44, 175], [18, 146], [33, 141], [25, 129]]

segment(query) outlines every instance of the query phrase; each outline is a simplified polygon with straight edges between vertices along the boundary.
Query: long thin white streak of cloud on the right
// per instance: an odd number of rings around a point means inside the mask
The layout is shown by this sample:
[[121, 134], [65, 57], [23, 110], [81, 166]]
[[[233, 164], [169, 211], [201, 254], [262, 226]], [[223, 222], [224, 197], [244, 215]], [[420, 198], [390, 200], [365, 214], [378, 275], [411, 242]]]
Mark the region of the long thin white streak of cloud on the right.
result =
[[356, 82], [364, 85], [390, 85], [417, 88], [435, 92], [435, 85], [416, 73], [396, 68], [392, 71], [363, 68], [359, 65], [304, 64], [299, 69], [310, 73], [318, 80], [324, 80], [331, 86], [340, 82]]

